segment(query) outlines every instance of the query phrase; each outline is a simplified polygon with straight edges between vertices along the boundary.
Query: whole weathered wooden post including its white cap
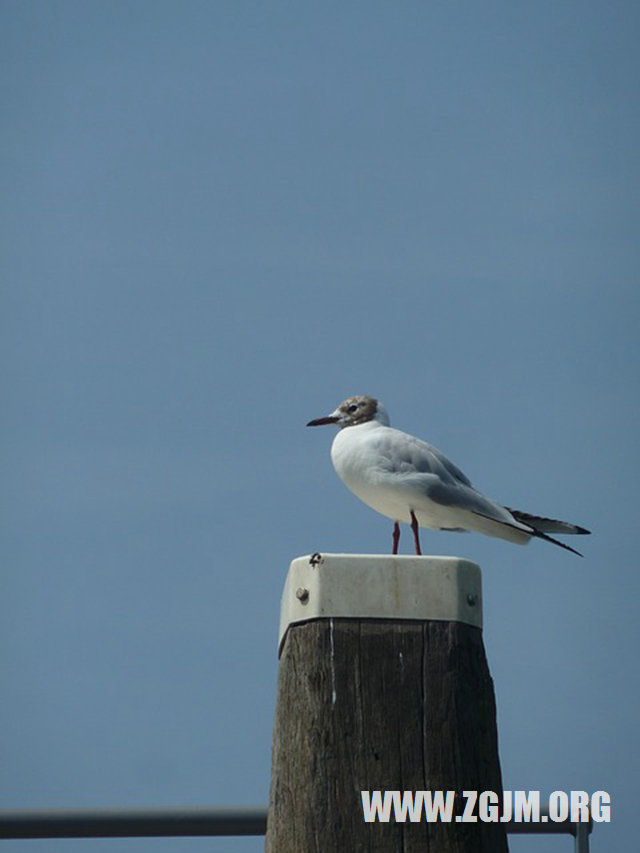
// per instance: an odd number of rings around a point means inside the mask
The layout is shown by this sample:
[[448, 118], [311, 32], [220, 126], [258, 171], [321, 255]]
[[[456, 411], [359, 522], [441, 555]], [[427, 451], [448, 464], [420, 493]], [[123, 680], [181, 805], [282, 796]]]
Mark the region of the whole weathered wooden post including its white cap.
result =
[[[282, 599], [267, 853], [505, 853], [480, 570], [447, 557], [313, 555]], [[450, 822], [365, 822], [361, 791], [455, 791]], [[369, 795], [370, 796], [370, 795]], [[436, 795], [437, 797], [437, 795]], [[477, 814], [477, 808], [474, 810]]]

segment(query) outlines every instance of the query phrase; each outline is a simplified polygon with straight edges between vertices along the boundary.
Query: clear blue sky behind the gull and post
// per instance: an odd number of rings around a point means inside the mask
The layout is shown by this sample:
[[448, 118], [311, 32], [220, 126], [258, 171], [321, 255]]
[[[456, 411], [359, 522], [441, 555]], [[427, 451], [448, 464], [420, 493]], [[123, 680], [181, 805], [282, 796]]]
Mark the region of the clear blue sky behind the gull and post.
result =
[[369, 393], [594, 531], [423, 546], [482, 566], [505, 787], [607, 790], [628, 846], [636, 4], [1, 13], [2, 803], [266, 803], [289, 562], [390, 549], [304, 429]]

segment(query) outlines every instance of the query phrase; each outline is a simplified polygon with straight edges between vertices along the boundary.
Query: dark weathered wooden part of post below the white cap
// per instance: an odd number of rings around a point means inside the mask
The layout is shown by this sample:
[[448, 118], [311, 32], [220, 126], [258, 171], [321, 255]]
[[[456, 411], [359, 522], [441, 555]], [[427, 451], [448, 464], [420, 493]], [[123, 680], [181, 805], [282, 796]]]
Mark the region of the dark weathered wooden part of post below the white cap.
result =
[[361, 790], [502, 791], [482, 632], [458, 622], [290, 627], [267, 853], [505, 853], [499, 823], [365, 823]]

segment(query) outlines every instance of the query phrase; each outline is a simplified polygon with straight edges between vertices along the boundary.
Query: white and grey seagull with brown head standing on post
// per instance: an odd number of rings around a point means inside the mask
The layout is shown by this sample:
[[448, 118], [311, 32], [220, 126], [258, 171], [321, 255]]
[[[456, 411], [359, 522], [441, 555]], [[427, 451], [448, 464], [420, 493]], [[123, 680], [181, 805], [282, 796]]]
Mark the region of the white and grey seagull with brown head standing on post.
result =
[[475, 530], [525, 545], [544, 539], [577, 554], [550, 533], [586, 534], [589, 530], [502, 506], [477, 491], [453, 462], [433, 445], [389, 425], [389, 415], [375, 397], [349, 397], [330, 415], [307, 426], [340, 427], [331, 446], [336, 473], [360, 500], [393, 519], [393, 554], [398, 553], [400, 522], [411, 525], [416, 554], [420, 527]]

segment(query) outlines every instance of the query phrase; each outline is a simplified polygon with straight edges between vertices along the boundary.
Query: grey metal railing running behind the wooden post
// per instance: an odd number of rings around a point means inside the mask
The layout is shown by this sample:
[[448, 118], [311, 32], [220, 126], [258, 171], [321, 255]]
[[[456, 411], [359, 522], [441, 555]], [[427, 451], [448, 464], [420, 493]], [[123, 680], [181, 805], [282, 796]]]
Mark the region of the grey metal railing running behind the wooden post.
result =
[[[509, 821], [511, 834], [572, 835], [575, 853], [589, 853], [592, 823], [569, 819], [544, 823]], [[0, 809], [0, 839], [9, 838], [175, 838], [193, 836], [264, 835], [264, 807]]]

